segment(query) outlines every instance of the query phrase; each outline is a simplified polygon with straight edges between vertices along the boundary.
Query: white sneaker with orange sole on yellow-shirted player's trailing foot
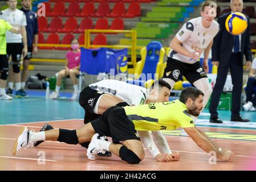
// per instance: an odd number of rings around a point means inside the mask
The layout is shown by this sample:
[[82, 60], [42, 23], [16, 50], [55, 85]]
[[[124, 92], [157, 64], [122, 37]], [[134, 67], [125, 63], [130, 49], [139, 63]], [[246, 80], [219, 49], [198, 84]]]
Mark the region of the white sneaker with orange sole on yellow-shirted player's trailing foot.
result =
[[16, 155], [21, 148], [33, 147], [34, 142], [31, 142], [31, 135], [33, 131], [27, 130], [27, 127], [23, 126], [19, 130], [19, 137], [15, 140], [13, 146], [13, 155]]

